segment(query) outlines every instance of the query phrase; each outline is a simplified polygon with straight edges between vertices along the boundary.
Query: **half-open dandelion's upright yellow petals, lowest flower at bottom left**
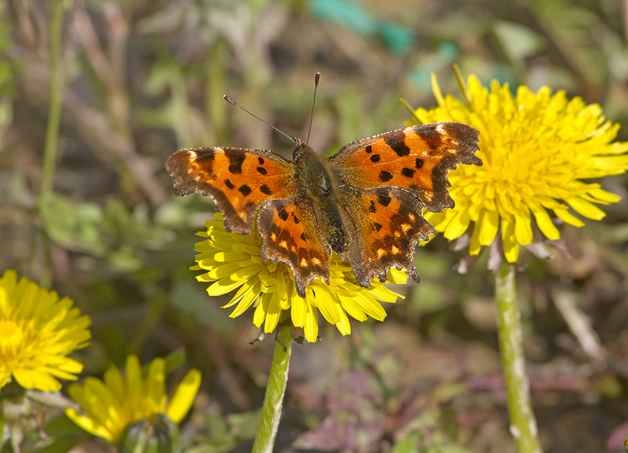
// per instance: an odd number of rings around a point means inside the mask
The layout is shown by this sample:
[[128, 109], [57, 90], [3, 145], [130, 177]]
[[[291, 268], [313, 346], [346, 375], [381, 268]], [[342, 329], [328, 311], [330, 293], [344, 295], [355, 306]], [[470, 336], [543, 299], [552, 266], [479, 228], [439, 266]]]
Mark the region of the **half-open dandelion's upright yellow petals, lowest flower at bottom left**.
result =
[[144, 378], [140, 360], [129, 355], [126, 377], [112, 365], [105, 371], [104, 381], [88, 377], [84, 385], [70, 385], [70, 398], [87, 416], [69, 408], [66, 415], [85, 431], [117, 443], [124, 429], [139, 420], [154, 422], [156, 415], [167, 415], [172, 422], [181, 422], [192, 406], [200, 381], [200, 371], [190, 369], [169, 401], [165, 394], [165, 360], [153, 360]]

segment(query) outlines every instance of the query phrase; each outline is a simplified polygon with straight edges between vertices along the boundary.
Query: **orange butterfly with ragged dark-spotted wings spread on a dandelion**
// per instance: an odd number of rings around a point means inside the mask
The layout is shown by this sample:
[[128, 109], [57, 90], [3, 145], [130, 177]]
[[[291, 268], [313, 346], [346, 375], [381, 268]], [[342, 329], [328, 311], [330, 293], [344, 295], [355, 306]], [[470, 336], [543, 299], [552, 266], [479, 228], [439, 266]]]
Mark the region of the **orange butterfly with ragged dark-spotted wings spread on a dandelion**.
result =
[[297, 293], [320, 278], [329, 284], [336, 252], [357, 282], [405, 269], [416, 282], [414, 246], [436, 233], [423, 208], [452, 208], [447, 174], [481, 165], [479, 132], [442, 122], [353, 141], [329, 158], [294, 139], [293, 161], [272, 151], [186, 148], [165, 163], [177, 195], [200, 192], [216, 203], [225, 230], [249, 234], [257, 217], [262, 259], [286, 263]]

